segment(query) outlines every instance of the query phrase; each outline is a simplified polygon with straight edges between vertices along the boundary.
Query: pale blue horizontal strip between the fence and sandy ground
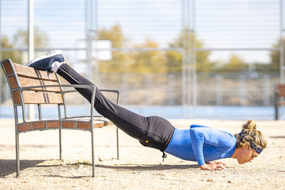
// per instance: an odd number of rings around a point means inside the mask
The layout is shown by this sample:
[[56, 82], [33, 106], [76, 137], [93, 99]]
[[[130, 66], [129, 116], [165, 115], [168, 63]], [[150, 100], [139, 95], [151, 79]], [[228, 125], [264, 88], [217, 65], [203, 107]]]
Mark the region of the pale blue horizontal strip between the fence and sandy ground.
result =
[[[242, 106], [124, 106], [140, 115], [157, 115], [166, 119], [215, 119], [215, 120], [274, 120], [274, 107]], [[63, 109], [61, 109], [63, 112]], [[38, 108], [35, 106], [35, 112]], [[43, 119], [58, 118], [57, 106], [43, 106]], [[90, 105], [69, 105], [68, 116], [88, 115]], [[21, 109], [19, 109], [21, 116]], [[36, 117], [37, 114], [36, 114]], [[0, 118], [14, 118], [11, 105], [0, 106]], [[285, 119], [285, 107], [279, 108], [279, 119]]]

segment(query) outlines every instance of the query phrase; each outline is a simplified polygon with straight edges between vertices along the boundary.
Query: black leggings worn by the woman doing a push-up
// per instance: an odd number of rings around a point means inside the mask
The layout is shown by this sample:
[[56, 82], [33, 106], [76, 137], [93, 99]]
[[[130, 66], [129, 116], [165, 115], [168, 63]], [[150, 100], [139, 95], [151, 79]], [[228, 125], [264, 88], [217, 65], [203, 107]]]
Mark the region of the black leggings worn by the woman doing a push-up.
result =
[[[63, 63], [57, 71], [69, 83], [75, 85], [94, 85], [78, 74], [75, 70]], [[91, 90], [76, 88], [91, 102]], [[114, 104], [105, 97], [98, 88], [95, 92], [95, 110], [112, 121], [120, 130], [138, 139], [140, 144], [164, 151], [172, 138], [175, 127], [162, 117], [143, 117], [119, 105]]]

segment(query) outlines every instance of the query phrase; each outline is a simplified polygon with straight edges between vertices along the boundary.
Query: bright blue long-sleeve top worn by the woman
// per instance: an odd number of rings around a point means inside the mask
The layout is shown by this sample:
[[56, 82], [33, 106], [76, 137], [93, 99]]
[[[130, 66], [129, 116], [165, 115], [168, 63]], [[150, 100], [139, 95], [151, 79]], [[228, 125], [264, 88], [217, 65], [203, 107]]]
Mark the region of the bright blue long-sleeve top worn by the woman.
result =
[[236, 144], [236, 137], [228, 132], [191, 125], [190, 130], [175, 129], [165, 152], [203, 165], [215, 159], [232, 157]]

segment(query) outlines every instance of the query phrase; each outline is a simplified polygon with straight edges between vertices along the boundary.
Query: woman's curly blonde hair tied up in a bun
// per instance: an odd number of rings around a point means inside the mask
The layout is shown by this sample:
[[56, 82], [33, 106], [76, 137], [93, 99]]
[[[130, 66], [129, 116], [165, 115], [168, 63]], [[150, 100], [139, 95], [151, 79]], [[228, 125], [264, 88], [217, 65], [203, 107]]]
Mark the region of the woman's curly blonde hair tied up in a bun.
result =
[[254, 120], [248, 120], [244, 125], [242, 125], [242, 132], [239, 134], [234, 134], [237, 138], [237, 148], [245, 146], [245, 142], [254, 142], [257, 147], [261, 149], [266, 148], [266, 139], [262, 132], [257, 130], [257, 122]]

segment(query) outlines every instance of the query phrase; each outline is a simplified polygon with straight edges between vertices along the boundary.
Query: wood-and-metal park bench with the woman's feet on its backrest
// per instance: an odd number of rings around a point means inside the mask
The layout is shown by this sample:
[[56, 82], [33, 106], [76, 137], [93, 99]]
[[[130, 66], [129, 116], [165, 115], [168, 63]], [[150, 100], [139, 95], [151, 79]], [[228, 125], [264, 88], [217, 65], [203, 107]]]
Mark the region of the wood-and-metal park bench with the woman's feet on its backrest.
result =
[[[11, 97], [14, 105], [15, 134], [16, 134], [16, 175], [20, 173], [19, 162], [19, 134], [36, 130], [59, 130], [59, 158], [61, 157], [61, 130], [84, 130], [91, 134], [92, 166], [93, 176], [95, 176], [93, 129], [113, 125], [113, 122], [102, 116], [94, 115], [95, 86], [93, 85], [61, 85], [61, 81], [56, 73], [35, 70], [25, 65], [12, 63], [10, 59], [1, 60], [1, 66], [6, 75], [11, 90]], [[63, 88], [73, 88], [63, 90]], [[77, 92], [74, 88], [86, 88], [92, 90], [92, 100], [90, 104], [90, 115], [68, 117], [66, 114], [66, 93]], [[116, 103], [118, 104], [118, 90], [101, 90], [116, 93]], [[28, 120], [26, 118], [26, 105], [38, 106], [38, 119]], [[41, 105], [57, 105], [58, 119], [43, 120]], [[19, 109], [18, 109], [19, 108]], [[22, 117], [19, 117], [21, 110]], [[63, 111], [62, 111], [63, 110]], [[62, 112], [64, 113], [62, 115]], [[117, 158], [118, 149], [118, 128], [117, 132]]]

